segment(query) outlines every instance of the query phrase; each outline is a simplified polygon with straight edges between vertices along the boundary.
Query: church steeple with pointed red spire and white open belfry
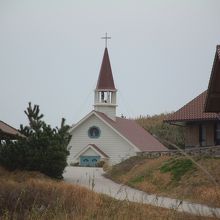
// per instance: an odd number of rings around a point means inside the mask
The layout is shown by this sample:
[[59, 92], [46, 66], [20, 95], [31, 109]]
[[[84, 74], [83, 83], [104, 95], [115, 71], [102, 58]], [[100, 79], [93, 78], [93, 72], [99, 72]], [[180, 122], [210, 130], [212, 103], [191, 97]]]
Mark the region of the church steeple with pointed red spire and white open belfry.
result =
[[95, 89], [94, 109], [105, 113], [109, 118], [116, 118], [116, 93], [108, 49], [105, 48], [98, 82]]

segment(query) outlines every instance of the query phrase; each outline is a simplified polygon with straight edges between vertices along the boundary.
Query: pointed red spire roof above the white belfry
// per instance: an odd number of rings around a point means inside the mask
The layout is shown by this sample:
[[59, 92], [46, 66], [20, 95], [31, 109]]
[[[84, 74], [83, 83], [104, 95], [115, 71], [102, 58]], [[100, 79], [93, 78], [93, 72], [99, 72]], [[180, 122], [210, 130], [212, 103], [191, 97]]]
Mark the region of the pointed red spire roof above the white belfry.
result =
[[96, 89], [116, 90], [107, 48], [105, 48]]

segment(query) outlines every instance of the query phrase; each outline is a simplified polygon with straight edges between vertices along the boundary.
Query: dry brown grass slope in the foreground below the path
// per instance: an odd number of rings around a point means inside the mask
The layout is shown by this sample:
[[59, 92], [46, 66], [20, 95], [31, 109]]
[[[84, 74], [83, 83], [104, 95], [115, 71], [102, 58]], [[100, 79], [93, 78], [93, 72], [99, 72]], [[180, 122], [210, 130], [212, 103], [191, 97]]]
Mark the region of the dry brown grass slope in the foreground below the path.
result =
[[179, 219], [203, 220], [149, 205], [117, 201], [86, 188], [54, 181], [38, 172], [0, 167], [0, 219]]

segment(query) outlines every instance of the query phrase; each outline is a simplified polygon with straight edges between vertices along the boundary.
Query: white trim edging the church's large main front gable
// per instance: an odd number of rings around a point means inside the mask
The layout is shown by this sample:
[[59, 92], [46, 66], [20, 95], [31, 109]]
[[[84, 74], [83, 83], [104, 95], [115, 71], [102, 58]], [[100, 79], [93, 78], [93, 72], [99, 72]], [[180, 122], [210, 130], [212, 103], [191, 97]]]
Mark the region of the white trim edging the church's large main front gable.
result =
[[[101, 116], [99, 116], [94, 110], [87, 114], [84, 118], [82, 118], [78, 123], [76, 123], [72, 128], [70, 128], [69, 133], [72, 133], [80, 124], [86, 121], [91, 115], [95, 115], [99, 118], [104, 124], [109, 126], [116, 134], [118, 134], [121, 138], [127, 141], [136, 151], [142, 152], [137, 146], [135, 146], [131, 141], [129, 141], [126, 137], [124, 137], [119, 131], [117, 131], [113, 126], [111, 126], [107, 121], [105, 121]], [[108, 117], [108, 116], [107, 116]]]

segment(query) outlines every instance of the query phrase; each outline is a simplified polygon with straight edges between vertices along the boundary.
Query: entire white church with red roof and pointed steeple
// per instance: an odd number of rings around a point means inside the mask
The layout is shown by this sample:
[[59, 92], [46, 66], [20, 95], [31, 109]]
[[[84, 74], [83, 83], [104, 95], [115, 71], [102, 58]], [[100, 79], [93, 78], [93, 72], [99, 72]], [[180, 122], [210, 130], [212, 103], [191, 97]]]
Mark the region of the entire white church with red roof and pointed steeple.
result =
[[96, 166], [105, 161], [114, 165], [138, 152], [167, 150], [134, 120], [116, 116], [116, 96], [106, 47], [94, 94], [94, 110], [70, 129], [69, 164]]

